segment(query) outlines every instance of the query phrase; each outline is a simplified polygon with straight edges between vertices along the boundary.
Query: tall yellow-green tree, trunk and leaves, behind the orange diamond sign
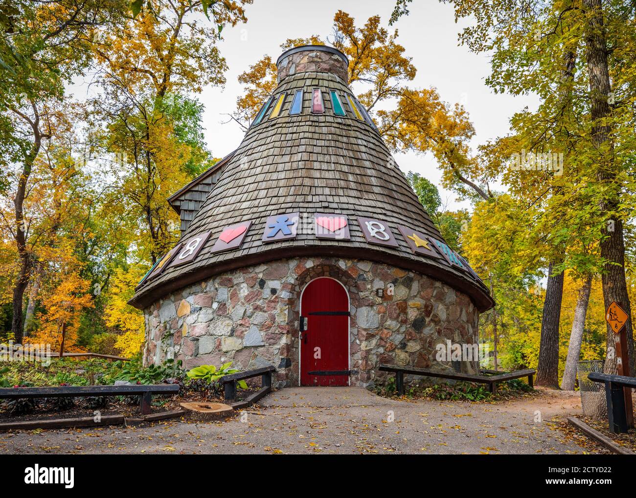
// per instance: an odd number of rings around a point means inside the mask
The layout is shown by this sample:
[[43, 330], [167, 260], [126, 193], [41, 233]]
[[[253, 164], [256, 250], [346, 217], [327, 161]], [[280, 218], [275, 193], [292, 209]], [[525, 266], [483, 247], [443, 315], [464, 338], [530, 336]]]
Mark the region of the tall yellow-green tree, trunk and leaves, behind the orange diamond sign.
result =
[[[566, 189], [562, 197], [578, 198], [570, 206], [574, 211], [570, 216], [581, 221], [579, 226], [587, 225], [600, 243], [597, 261], [604, 266], [606, 303], [619, 301], [630, 310], [623, 238], [630, 203], [622, 202], [621, 197], [633, 195], [627, 170], [634, 140], [628, 130], [633, 126], [630, 102], [636, 86], [626, 68], [635, 62], [630, 49], [636, 36], [631, 24], [635, 6], [621, 0], [450, 3], [455, 6], [456, 18], [476, 18], [460, 33], [460, 41], [475, 52], [492, 53], [492, 74], [487, 83], [497, 91], [536, 92], [544, 108], [551, 110], [545, 117], [556, 116], [556, 122], [565, 122], [561, 142], [567, 141], [572, 153], [568, 157], [569, 184], [562, 185]], [[519, 46], [526, 50], [513, 48]], [[559, 115], [561, 94], [550, 94], [550, 74], [562, 75], [563, 67], [568, 67], [565, 55], [583, 50], [585, 64], [572, 64], [571, 107], [576, 120], [563, 121]], [[546, 73], [551, 66], [553, 71]], [[553, 104], [548, 105], [550, 102]], [[586, 237], [574, 226], [569, 229]], [[626, 324], [626, 335], [633, 364], [631, 321]], [[607, 346], [608, 350], [614, 347], [609, 328]], [[616, 368], [611, 357], [606, 368]]]

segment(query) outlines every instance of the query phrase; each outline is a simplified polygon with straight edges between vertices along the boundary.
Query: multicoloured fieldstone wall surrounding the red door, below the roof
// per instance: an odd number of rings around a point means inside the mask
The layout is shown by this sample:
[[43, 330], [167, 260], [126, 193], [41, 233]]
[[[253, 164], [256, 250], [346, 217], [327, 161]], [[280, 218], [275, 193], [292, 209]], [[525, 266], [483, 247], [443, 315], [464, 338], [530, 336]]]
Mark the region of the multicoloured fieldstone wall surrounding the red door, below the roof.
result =
[[[478, 311], [442, 282], [371, 261], [296, 258], [218, 275], [146, 309], [144, 364], [166, 357], [182, 359], [186, 368], [230, 360], [242, 369], [273, 364], [278, 387], [298, 385], [300, 293], [325, 276], [349, 293], [351, 385], [382, 382], [380, 363], [452, 368], [436, 361], [436, 345], [478, 342]], [[475, 373], [477, 364], [462, 361], [460, 368]]]

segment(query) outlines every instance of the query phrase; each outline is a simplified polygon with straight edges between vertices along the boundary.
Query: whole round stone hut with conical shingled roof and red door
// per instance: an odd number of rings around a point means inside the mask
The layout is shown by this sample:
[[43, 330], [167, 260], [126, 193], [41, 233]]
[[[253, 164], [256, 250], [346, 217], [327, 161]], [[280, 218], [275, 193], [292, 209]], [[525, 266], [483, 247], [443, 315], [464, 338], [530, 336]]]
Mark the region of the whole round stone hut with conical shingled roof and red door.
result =
[[298, 46], [232, 154], [170, 198], [180, 242], [130, 304], [144, 364], [276, 367], [275, 384], [381, 383], [380, 363], [474, 373], [494, 304], [446, 246], [347, 86], [348, 60]]

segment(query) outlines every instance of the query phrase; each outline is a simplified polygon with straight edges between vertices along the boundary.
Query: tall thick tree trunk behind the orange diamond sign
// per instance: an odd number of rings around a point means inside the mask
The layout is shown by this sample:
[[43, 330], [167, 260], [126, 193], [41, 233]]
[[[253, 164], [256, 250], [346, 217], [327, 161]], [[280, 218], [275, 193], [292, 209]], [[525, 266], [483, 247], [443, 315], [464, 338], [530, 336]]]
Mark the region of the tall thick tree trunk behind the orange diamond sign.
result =
[[[605, 263], [602, 273], [603, 300], [605, 309], [616, 301], [625, 310], [628, 319], [625, 324], [625, 334], [630, 358], [630, 371], [634, 371], [634, 343], [632, 331], [632, 308], [627, 293], [625, 280], [625, 240], [623, 239], [623, 219], [616, 216], [620, 211], [620, 186], [616, 184], [614, 172], [614, 150], [610, 140], [611, 120], [609, 93], [609, 69], [607, 64], [607, 39], [603, 20], [602, 0], [584, 0], [586, 10], [586, 63], [590, 80], [591, 100], [591, 140], [598, 151], [598, 183], [607, 188], [608, 193], [600, 202], [601, 211], [608, 216], [608, 222], [602, 232], [600, 240], [600, 255]], [[615, 218], [615, 219], [614, 219]], [[614, 333], [607, 325], [607, 350], [614, 348]], [[607, 355], [605, 373], [616, 373], [616, 356]]]

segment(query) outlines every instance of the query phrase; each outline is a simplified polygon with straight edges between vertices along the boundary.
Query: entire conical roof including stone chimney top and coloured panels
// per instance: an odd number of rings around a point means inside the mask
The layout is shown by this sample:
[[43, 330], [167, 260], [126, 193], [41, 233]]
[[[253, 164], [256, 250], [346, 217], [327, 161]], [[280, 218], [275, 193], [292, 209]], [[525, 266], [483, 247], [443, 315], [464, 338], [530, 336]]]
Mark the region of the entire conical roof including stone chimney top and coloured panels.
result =
[[[277, 88], [221, 162], [216, 183], [202, 193], [211, 178], [204, 174], [179, 191], [181, 242], [144, 277], [132, 305], [148, 307], [237, 268], [331, 256], [429, 275], [479, 310], [492, 307], [487, 287], [446, 245], [347, 85], [348, 66], [330, 46], [280, 55]], [[188, 191], [193, 200], [185, 200]]]

